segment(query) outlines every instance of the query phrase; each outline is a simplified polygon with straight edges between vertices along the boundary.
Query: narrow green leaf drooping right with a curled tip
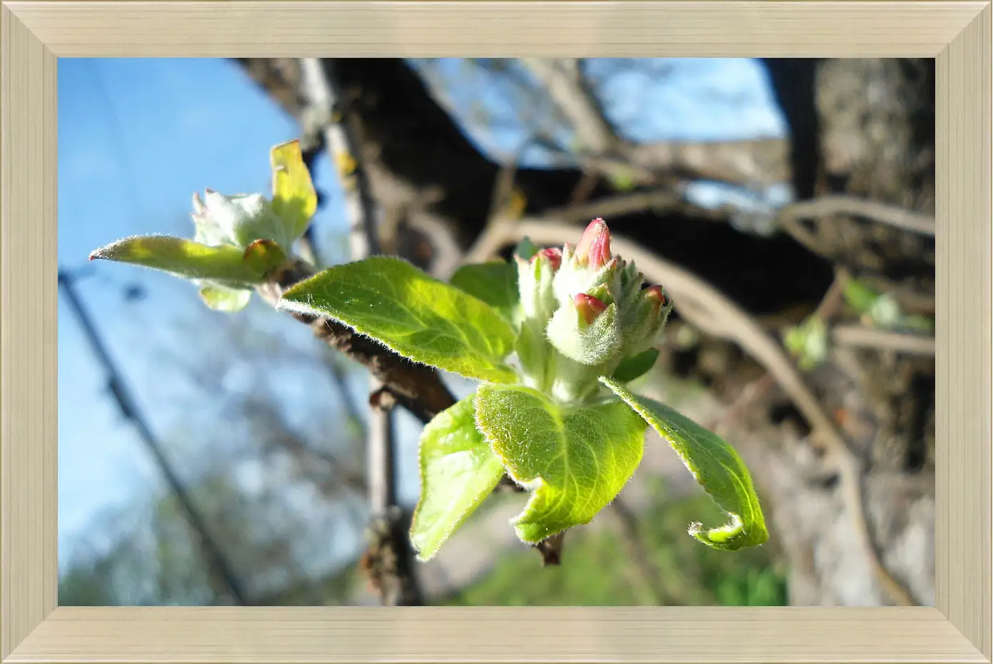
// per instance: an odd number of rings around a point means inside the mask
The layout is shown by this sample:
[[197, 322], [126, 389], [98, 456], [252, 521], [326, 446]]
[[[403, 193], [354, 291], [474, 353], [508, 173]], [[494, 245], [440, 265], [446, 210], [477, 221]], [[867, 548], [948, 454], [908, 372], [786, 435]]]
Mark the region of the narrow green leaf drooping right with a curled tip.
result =
[[607, 377], [600, 379], [669, 442], [697, 483], [731, 516], [731, 521], [705, 529], [694, 523], [689, 534], [722, 551], [764, 544], [769, 539], [759, 496], [745, 462], [728, 443], [668, 406], [639, 397]]

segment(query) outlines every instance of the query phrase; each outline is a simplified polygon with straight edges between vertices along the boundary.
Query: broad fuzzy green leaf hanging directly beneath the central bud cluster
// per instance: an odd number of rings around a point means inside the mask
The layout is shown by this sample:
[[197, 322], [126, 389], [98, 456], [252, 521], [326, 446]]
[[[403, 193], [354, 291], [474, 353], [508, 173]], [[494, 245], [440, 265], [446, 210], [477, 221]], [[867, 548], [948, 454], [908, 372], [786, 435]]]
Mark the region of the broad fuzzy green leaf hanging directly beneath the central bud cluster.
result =
[[631, 479], [644, 452], [644, 422], [612, 401], [562, 407], [520, 385], [483, 385], [476, 424], [507, 473], [532, 491], [511, 523], [536, 544], [588, 523]]

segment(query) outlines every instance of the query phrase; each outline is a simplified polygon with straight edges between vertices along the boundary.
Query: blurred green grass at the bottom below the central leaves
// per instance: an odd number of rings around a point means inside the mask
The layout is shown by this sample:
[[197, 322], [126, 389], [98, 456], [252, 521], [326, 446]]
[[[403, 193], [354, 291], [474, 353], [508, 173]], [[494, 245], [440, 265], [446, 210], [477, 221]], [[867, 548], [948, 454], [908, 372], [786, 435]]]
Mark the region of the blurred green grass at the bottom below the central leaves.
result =
[[[607, 512], [610, 510], [608, 509]], [[711, 516], [712, 515], [712, 516]], [[640, 550], [664, 597], [653, 597], [650, 583], [638, 573], [629, 544], [617, 528], [579, 528], [565, 539], [562, 565], [541, 567], [540, 557], [521, 548], [504, 555], [483, 579], [444, 603], [465, 606], [634, 606], [785, 605], [785, 570], [768, 547], [734, 554], [700, 547], [687, 533], [693, 518], [719, 520], [721, 514], [705, 495], [667, 501], [653, 491], [639, 514]], [[606, 519], [605, 513], [597, 520]]]

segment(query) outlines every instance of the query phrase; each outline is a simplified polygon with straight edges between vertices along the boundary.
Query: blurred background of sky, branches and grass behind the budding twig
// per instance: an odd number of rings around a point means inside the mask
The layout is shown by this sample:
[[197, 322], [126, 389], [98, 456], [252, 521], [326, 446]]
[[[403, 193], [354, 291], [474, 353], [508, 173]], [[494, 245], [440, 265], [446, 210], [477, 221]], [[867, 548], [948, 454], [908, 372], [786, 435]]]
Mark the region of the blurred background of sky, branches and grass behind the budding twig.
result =
[[[496, 218], [561, 243], [603, 216], [680, 268], [638, 389], [738, 448], [772, 531], [734, 554], [688, 537], [722, 515], [649, 434], [560, 565], [497, 491], [404, 603], [933, 603], [933, 61], [62, 59], [59, 85], [61, 604], [383, 601], [364, 369], [257, 298], [220, 314], [86, 261], [192, 236], [196, 191], [268, 193], [294, 138], [322, 264], [350, 258], [357, 175], [383, 251], [442, 278], [505, 254]], [[390, 427], [402, 524], [420, 423]]]

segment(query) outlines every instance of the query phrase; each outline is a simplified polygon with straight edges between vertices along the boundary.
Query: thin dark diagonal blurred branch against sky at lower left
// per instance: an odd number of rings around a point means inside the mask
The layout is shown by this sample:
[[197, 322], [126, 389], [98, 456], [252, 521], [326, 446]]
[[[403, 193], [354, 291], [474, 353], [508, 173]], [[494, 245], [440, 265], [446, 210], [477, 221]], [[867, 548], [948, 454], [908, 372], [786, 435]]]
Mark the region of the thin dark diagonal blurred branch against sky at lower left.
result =
[[90, 318], [89, 313], [86, 311], [82, 301], [79, 299], [78, 294], [75, 292], [75, 284], [70, 273], [64, 270], [59, 271], [59, 287], [66, 296], [66, 303], [72, 310], [72, 315], [79, 324], [80, 330], [89, 341], [90, 346], [92, 346], [93, 353], [96, 355], [96, 361], [103, 367], [103, 371], [107, 376], [107, 388], [110, 392], [110, 396], [117, 404], [117, 408], [120, 410], [121, 415], [124, 416], [124, 419], [130, 422], [131, 426], [134, 427], [136, 433], [138, 434], [139, 440], [141, 440], [141, 442], [148, 449], [149, 453], [151, 453], [155, 464], [158, 465], [159, 469], [162, 471], [162, 475], [165, 477], [170, 491], [172, 491], [173, 495], [176, 496], [176, 500], [179, 502], [180, 508], [186, 515], [190, 527], [200, 539], [204, 556], [207, 558], [207, 563], [213, 570], [214, 576], [224, 584], [227, 592], [230, 593], [231, 598], [234, 599], [235, 602], [241, 605], [248, 604], [244, 587], [234, 574], [227, 558], [213, 541], [213, 537], [211, 536], [210, 530], [208, 529], [203, 516], [201, 516], [200, 511], [194, 504], [193, 499], [191, 498], [186, 487], [183, 485], [183, 481], [180, 479], [176, 470], [166, 458], [162, 444], [152, 433], [152, 429], [149, 426], [148, 421], [138, 408], [131, 391], [125, 384], [120, 369], [117, 368], [117, 365], [114, 363], [113, 359], [111, 359], [110, 352], [104, 345], [103, 339], [101, 338], [99, 332], [97, 332], [96, 327], [93, 325], [93, 321]]

